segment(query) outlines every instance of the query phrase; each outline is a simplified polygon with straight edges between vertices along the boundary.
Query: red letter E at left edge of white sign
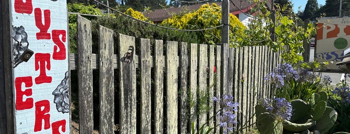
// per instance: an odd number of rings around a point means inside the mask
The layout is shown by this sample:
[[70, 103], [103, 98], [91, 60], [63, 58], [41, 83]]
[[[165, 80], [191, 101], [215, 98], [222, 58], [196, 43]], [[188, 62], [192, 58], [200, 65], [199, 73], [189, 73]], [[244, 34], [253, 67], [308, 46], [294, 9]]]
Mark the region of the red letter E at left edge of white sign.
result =
[[24, 91], [22, 91], [22, 83], [25, 83], [26, 87], [33, 86], [33, 78], [32, 76], [26, 76], [26, 77], [16, 77], [15, 79], [15, 88], [16, 88], [16, 109], [17, 110], [24, 110], [24, 109], [30, 109], [33, 108], [33, 98], [27, 98], [25, 101], [23, 101], [23, 96], [31, 96], [32, 95], [32, 88], [27, 88]]

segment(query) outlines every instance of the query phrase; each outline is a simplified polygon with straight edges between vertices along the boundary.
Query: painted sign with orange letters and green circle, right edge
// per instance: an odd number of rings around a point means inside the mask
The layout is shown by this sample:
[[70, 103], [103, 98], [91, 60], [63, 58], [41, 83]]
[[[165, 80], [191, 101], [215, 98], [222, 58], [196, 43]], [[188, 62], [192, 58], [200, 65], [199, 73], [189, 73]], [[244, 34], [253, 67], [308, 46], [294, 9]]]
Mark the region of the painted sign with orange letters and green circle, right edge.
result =
[[350, 17], [324, 17], [317, 19], [315, 59], [328, 61], [329, 70], [339, 70], [336, 62], [344, 55], [350, 41]]

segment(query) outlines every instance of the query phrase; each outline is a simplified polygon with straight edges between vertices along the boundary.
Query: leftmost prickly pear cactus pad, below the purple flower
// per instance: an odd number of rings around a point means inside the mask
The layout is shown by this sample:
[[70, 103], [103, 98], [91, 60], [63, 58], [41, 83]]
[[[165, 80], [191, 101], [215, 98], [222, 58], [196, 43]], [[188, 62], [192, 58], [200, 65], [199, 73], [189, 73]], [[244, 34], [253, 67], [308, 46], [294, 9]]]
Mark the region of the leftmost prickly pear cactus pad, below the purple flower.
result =
[[282, 123], [275, 120], [269, 112], [258, 115], [256, 126], [261, 134], [279, 134], [283, 132]]

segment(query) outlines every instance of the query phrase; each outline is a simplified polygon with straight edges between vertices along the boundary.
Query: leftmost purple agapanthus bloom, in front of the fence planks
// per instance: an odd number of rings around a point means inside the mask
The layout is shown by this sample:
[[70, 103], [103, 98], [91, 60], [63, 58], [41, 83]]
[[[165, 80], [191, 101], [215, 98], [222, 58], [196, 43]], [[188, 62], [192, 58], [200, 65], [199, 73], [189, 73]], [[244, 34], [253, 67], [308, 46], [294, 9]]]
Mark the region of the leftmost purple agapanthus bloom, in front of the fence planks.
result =
[[221, 107], [221, 110], [216, 114], [216, 116], [220, 119], [219, 125], [233, 131], [234, 127], [228, 127], [227, 124], [237, 123], [235, 112], [237, 111], [238, 103], [233, 102], [234, 99], [231, 95], [222, 95], [221, 98], [213, 97], [213, 100], [218, 102]]

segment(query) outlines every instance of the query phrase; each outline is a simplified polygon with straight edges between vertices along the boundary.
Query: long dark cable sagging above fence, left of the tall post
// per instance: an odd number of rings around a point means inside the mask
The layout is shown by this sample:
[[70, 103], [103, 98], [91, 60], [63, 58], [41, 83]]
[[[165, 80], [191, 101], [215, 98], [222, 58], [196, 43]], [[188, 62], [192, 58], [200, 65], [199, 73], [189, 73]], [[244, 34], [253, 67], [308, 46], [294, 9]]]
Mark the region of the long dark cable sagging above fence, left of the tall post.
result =
[[103, 6], [106, 6], [107, 8], [112, 9], [113, 11], [118, 12], [119, 14], [122, 14], [122, 15], [124, 15], [124, 16], [126, 16], [126, 17], [129, 17], [129, 18], [131, 18], [131, 19], [134, 19], [134, 20], [136, 20], [136, 21], [140, 21], [140, 22], [143, 22], [143, 23], [145, 23], [145, 24], [157, 26], [157, 27], [160, 27], [160, 28], [170, 29], [170, 30], [179, 30], [179, 31], [203, 31], [203, 30], [214, 29], [214, 28], [217, 28], [217, 27], [220, 27], [220, 26], [223, 25], [223, 24], [221, 24], [221, 25], [218, 25], [218, 26], [215, 26], [215, 27], [210, 27], [210, 28], [205, 28], [205, 29], [195, 29], [195, 30], [170, 28], [170, 27], [166, 27], [166, 26], [162, 26], [162, 25], [158, 25], [158, 24], [154, 24], [154, 23], [150, 23], [150, 22], [146, 22], [146, 21], [137, 19], [137, 18], [132, 17], [132, 16], [130, 16], [130, 15], [128, 15], [128, 14], [124, 14], [123, 12], [120, 12], [120, 11], [118, 11], [118, 10], [112, 8], [112, 7], [109, 7], [109, 6], [107, 6], [106, 4], [104, 4], [104, 3], [100, 2], [100, 1], [97, 1], [97, 0], [94, 0], [94, 1], [97, 2], [97, 3], [99, 3], [99, 4], [101, 4], [101, 5], [103, 5]]

